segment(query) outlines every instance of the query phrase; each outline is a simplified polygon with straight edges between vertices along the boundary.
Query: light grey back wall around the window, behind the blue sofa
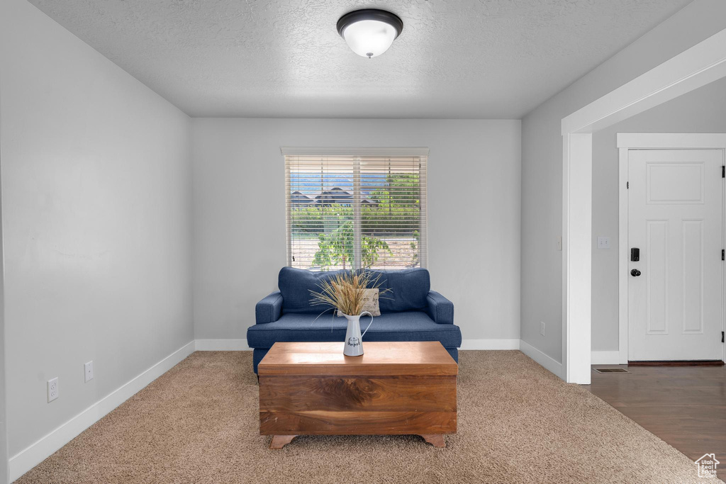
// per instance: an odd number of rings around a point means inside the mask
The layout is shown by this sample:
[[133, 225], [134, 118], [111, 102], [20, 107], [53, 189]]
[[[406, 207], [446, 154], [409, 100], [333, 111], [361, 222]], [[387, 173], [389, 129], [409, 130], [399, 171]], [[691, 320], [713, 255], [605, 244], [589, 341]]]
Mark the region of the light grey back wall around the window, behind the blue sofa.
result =
[[[281, 146], [429, 147], [431, 285], [465, 339], [518, 339], [518, 120], [192, 119], [195, 335], [245, 338], [285, 265]], [[465, 208], [462, 210], [461, 208]]]

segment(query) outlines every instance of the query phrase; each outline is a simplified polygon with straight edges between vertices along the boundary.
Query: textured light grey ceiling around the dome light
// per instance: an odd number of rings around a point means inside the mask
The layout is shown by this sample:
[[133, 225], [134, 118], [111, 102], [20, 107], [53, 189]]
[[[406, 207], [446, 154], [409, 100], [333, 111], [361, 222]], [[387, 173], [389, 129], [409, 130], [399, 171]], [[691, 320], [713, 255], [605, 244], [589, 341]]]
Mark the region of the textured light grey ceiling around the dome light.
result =
[[[690, 0], [30, 0], [192, 116], [521, 118]], [[365, 59], [353, 9], [401, 36]]]

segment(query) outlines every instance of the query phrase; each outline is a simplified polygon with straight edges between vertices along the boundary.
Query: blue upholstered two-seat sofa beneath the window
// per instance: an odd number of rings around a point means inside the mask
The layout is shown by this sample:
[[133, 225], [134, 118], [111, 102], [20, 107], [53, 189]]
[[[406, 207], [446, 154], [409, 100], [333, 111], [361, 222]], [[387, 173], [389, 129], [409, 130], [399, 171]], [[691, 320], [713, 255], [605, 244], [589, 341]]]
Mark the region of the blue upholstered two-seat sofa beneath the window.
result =
[[[333, 316], [327, 307], [310, 305], [310, 290], [339, 271], [313, 272], [283, 267], [278, 276], [279, 291], [255, 307], [256, 324], [247, 330], [247, 343], [253, 348], [254, 372], [272, 345], [282, 341], [340, 341], [346, 337], [348, 322]], [[461, 330], [454, 326], [454, 305], [431, 290], [431, 279], [424, 268], [400, 271], [373, 271], [380, 274], [381, 288], [391, 289], [379, 300], [377, 316], [363, 338], [367, 341], [439, 341], [455, 361], [461, 345]], [[363, 328], [368, 326], [362, 320]], [[341, 347], [342, 348], [342, 347]]]

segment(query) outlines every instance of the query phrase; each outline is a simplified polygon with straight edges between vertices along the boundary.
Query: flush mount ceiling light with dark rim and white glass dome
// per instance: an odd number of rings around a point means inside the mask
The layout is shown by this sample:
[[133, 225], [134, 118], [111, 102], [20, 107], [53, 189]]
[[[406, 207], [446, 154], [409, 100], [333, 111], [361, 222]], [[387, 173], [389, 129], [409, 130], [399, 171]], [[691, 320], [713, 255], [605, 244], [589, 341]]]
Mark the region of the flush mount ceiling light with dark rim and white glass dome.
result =
[[348, 47], [369, 59], [386, 52], [401, 35], [401, 30], [404, 30], [404, 22], [386, 10], [355, 10], [338, 20], [338, 33], [346, 39]]

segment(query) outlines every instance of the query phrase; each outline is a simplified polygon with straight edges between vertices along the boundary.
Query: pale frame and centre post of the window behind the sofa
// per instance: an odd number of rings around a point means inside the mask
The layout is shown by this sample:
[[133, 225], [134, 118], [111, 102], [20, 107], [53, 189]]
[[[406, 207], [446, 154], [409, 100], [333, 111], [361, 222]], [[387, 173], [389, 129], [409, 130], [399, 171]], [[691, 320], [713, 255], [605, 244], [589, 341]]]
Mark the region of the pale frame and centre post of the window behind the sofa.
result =
[[[346, 157], [421, 157], [426, 165], [425, 176], [420, 181], [420, 189], [422, 189], [425, 197], [423, 198], [423, 208], [420, 210], [420, 229], [424, 233], [419, 244], [419, 264], [421, 268], [428, 268], [428, 147], [280, 147], [282, 154], [282, 163], [285, 163], [287, 156], [346, 156]], [[360, 169], [354, 167], [354, 196], [355, 200], [360, 198]], [[293, 267], [293, 237], [292, 237], [292, 221], [287, 220], [287, 208], [291, 204], [291, 194], [287, 186], [290, 184], [290, 171], [285, 165], [285, 246], [287, 248], [287, 267]], [[361, 266], [360, 253], [360, 237], [361, 230], [361, 213], [359, 204], [354, 203], [354, 269]], [[304, 269], [310, 271], [311, 269]]]

